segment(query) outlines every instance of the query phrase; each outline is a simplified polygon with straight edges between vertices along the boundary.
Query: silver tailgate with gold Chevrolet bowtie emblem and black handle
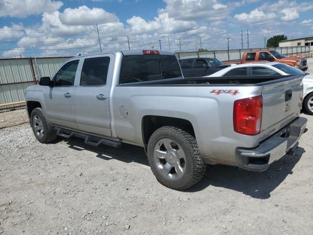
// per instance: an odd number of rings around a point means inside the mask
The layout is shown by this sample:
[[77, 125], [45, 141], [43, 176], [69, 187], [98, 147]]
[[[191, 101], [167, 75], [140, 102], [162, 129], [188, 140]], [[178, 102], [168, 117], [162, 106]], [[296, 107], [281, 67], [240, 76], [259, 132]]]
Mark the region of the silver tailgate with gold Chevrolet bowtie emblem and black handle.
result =
[[282, 80], [263, 85], [260, 141], [276, 133], [300, 115], [302, 77]]

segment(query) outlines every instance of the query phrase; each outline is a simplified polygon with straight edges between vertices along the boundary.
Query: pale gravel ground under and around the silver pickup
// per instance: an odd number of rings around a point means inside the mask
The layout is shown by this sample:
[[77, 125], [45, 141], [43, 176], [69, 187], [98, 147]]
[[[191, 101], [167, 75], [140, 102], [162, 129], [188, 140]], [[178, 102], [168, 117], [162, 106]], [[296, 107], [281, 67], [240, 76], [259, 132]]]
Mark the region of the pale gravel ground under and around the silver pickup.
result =
[[142, 148], [41, 144], [28, 124], [3, 128], [0, 234], [313, 234], [313, 117], [302, 116], [295, 156], [262, 173], [211, 165], [184, 192], [156, 181]]

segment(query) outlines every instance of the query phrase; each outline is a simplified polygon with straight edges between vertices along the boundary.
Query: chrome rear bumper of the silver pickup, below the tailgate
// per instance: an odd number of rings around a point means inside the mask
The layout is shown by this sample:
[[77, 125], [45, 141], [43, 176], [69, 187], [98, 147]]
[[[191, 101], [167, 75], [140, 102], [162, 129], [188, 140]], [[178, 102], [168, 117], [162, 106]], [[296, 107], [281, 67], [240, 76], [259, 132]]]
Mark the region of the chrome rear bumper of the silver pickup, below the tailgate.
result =
[[289, 125], [278, 131], [258, 147], [253, 149], [237, 149], [237, 162], [239, 167], [252, 170], [264, 171], [269, 165], [297, 144], [307, 125], [307, 118], [297, 118]]

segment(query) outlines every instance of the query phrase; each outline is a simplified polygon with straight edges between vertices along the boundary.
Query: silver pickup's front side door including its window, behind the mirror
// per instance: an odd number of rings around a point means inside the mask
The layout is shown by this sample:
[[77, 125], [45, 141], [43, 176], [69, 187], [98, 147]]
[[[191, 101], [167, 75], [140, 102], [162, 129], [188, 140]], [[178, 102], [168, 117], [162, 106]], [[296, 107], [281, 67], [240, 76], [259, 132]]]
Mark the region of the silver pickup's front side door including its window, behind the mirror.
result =
[[53, 77], [54, 87], [45, 90], [47, 119], [52, 124], [77, 129], [74, 117], [74, 80], [79, 60], [67, 62]]

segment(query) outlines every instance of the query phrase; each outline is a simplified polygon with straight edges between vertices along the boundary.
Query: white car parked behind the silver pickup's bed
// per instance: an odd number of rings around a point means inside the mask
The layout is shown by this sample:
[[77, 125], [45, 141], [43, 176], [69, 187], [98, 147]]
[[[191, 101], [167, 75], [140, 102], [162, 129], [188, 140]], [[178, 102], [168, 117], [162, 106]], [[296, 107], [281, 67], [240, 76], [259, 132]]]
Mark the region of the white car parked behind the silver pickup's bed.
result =
[[300, 75], [303, 77], [303, 104], [308, 114], [313, 115], [313, 74], [305, 73], [294, 67], [278, 62], [269, 63], [247, 63], [215, 72], [206, 77], [226, 76], [268, 76], [268, 75]]

